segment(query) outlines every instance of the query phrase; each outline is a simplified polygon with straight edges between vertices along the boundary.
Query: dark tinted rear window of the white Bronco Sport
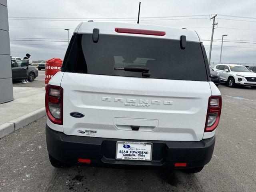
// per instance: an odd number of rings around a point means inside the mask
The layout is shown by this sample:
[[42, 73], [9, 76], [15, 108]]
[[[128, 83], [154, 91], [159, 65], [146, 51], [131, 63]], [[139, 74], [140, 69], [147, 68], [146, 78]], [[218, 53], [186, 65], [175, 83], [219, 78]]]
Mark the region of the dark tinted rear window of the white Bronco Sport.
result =
[[97, 43], [92, 34], [74, 34], [62, 71], [85, 74], [142, 77], [142, 72], [115, 70], [146, 67], [149, 78], [207, 81], [200, 43], [179, 40], [100, 34]]

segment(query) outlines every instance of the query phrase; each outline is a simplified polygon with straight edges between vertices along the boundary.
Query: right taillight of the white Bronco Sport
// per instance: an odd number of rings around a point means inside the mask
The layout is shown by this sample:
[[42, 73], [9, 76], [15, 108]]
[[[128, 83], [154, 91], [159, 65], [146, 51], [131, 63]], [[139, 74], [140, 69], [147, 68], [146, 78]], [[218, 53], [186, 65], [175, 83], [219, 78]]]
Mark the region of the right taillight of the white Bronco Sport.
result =
[[212, 132], [220, 122], [221, 96], [210, 96], [204, 132]]

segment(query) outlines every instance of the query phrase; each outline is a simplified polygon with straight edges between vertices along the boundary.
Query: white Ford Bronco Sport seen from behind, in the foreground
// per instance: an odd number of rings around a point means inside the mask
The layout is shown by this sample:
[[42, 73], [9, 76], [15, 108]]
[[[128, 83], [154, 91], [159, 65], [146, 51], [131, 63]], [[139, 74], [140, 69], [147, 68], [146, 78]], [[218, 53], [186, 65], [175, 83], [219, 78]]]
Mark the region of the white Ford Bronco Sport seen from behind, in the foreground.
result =
[[82, 22], [46, 88], [54, 167], [171, 167], [212, 158], [220, 91], [195, 31]]

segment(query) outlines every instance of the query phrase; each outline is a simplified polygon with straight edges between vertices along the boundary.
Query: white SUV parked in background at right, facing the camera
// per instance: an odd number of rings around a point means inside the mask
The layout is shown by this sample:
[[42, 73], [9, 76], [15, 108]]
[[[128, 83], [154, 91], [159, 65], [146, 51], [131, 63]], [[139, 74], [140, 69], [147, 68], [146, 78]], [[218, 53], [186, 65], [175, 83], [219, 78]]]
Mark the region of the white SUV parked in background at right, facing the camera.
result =
[[256, 88], [256, 73], [251, 72], [242, 65], [218, 64], [214, 68], [220, 74], [220, 80], [226, 82], [229, 87], [236, 84]]

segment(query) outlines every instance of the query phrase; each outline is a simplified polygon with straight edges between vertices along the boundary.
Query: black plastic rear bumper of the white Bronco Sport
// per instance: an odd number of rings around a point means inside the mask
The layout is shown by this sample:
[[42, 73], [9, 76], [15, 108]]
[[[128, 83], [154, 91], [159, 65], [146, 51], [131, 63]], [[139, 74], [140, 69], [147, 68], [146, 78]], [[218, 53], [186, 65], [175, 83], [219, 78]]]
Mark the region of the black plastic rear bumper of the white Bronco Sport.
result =
[[[186, 162], [186, 168], [207, 164], [214, 150], [215, 136], [201, 141], [149, 141], [152, 142], [152, 161], [116, 160], [116, 142], [124, 139], [70, 136], [50, 129], [46, 125], [47, 150], [51, 156], [72, 165], [103, 166], [114, 168], [146, 167], [175, 168], [177, 162]], [[90, 159], [91, 164], [78, 163], [78, 158]]]

